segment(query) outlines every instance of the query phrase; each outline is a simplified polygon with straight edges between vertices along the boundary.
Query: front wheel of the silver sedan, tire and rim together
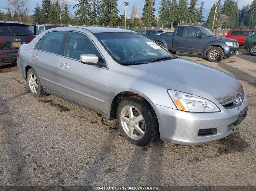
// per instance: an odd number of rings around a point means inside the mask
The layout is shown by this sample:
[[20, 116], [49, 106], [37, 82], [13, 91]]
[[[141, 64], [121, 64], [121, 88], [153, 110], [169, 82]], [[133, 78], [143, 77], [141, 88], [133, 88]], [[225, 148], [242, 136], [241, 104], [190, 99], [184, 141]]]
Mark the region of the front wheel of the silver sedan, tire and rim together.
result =
[[119, 103], [117, 123], [124, 137], [138, 146], [148, 145], [159, 136], [158, 121], [153, 108], [138, 95]]

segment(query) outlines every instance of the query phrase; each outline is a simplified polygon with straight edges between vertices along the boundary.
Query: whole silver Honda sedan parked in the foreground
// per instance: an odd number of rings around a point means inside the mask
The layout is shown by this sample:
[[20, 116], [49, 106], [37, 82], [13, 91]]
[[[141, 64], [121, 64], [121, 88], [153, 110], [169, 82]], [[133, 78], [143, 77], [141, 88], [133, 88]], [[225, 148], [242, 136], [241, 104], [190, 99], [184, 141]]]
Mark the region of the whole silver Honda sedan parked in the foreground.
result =
[[236, 78], [130, 30], [50, 29], [19, 48], [17, 65], [34, 97], [52, 94], [117, 119], [124, 137], [140, 146], [159, 135], [181, 145], [214, 141], [248, 111]]

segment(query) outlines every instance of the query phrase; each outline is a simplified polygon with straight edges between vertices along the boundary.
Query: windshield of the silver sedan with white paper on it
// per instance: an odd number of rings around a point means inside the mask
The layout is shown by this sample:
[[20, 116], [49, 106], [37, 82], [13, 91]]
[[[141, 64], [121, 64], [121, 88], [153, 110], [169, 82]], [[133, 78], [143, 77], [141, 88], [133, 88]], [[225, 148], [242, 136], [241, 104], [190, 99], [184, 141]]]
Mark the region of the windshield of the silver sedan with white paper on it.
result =
[[119, 64], [146, 64], [174, 55], [139, 33], [95, 33]]

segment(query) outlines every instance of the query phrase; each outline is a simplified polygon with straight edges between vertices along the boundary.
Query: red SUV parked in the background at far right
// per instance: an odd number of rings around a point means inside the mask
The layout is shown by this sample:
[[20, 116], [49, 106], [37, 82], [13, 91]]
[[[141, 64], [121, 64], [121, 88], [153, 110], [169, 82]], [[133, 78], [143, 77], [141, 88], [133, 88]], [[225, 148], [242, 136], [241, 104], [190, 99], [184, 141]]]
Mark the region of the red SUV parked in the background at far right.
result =
[[239, 46], [244, 46], [245, 38], [254, 34], [256, 30], [229, 30], [226, 38], [238, 40]]

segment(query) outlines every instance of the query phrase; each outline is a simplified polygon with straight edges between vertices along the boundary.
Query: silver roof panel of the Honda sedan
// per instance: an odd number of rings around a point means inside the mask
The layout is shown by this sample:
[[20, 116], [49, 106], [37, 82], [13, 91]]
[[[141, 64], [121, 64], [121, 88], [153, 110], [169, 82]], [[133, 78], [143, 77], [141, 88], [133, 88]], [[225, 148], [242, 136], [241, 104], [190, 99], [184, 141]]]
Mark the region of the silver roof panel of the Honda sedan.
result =
[[[69, 29], [76, 29], [76, 28], [81, 28], [90, 31], [91, 33], [136, 33], [132, 30], [126, 30], [126, 29], [120, 29], [120, 28], [111, 28], [111, 27], [81, 27], [81, 26], [72, 26], [72, 27], [58, 27], [58, 28], [53, 28], [50, 29], [51, 31], [53, 30], [69, 30]], [[48, 31], [48, 30], [47, 30]]]

